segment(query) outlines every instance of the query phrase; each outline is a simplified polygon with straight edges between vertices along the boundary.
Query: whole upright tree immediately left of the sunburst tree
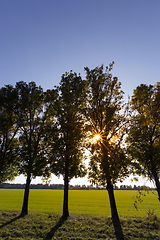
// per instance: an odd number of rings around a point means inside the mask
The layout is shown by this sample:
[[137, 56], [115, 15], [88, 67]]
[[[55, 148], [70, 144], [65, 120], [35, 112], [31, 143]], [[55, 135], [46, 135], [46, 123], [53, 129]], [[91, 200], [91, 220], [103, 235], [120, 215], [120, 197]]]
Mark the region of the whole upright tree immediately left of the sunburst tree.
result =
[[68, 188], [73, 177], [83, 177], [83, 126], [81, 109], [85, 102], [85, 82], [76, 73], [62, 75], [57, 87], [58, 99], [55, 104], [57, 139], [53, 140], [51, 161], [52, 172], [64, 179], [63, 217], [69, 216]]

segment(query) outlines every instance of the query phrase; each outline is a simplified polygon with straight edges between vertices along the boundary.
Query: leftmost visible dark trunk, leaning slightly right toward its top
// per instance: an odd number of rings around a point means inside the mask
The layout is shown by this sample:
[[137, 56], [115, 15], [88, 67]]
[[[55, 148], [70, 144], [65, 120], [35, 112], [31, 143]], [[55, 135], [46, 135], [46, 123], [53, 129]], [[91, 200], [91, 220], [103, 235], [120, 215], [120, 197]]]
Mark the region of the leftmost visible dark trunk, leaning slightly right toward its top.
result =
[[24, 192], [24, 199], [23, 199], [23, 207], [21, 211], [21, 216], [24, 217], [28, 214], [28, 199], [29, 199], [29, 188], [31, 183], [31, 175], [27, 176], [25, 192]]

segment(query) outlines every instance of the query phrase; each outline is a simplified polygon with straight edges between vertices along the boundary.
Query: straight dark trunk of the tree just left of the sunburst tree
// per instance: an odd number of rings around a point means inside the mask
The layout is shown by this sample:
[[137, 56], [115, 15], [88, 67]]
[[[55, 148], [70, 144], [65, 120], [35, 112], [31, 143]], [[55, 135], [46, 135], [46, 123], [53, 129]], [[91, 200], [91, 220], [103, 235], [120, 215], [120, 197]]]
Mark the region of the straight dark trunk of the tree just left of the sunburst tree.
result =
[[64, 176], [64, 200], [63, 200], [63, 217], [64, 218], [68, 218], [68, 216], [69, 216], [69, 210], [68, 210], [68, 186], [69, 186], [68, 174], [65, 173], [65, 176]]

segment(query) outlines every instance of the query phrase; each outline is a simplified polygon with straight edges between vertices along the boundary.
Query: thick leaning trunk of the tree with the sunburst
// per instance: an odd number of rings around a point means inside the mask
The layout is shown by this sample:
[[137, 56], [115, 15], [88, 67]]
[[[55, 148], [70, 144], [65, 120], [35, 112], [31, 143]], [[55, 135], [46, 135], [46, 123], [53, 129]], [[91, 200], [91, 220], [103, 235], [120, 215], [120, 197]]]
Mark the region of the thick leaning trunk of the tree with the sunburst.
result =
[[114, 192], [113, 192], [113, 185], [111, 183], [107, 184], [107, 190], [108, 190], [108, 195], [110, 200], [112, 222], [114, 225], [116, 238], [117, 240], [122, 240], [124, 239], [124, 235], [123, 235], [121, 223], [120, 223], [118, 212], [117, 212], [117, 206], [116, 206]]

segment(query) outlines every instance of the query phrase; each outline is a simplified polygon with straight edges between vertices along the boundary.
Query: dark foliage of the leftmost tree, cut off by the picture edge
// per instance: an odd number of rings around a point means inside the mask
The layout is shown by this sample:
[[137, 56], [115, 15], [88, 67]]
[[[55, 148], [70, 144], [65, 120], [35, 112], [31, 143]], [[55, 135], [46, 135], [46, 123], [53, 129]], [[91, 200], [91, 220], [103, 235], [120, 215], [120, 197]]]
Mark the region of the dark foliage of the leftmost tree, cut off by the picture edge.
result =
[[16, 134], [19, 129], [15, 115], [17, 92], [11, 85], [0, 89], [0, 183], [17, 175], [18, 157]]

